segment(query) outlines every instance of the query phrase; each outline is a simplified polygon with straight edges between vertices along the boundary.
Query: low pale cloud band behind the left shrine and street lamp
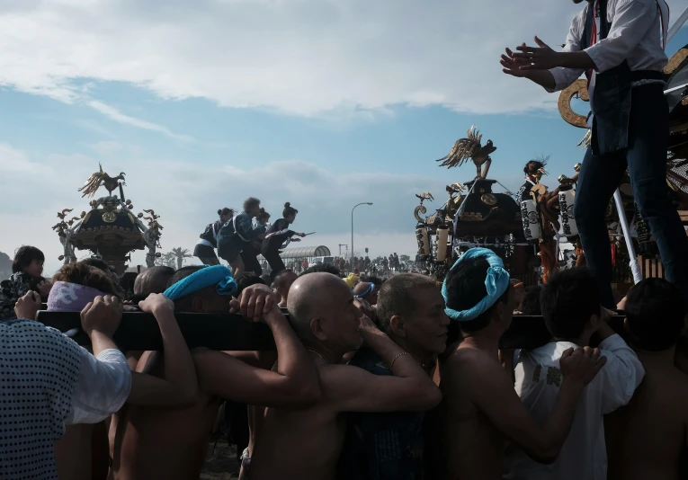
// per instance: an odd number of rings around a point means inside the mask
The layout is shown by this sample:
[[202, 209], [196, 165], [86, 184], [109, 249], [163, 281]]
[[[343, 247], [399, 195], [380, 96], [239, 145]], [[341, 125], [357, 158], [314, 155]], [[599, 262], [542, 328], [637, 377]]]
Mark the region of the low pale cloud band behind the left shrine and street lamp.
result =
[[[108, 173], [127, 173], [124, 194], [136, 212], [155, 209], [164, 227], [163, 251], [182, 246], [189, 250], [203, 228], [214, 221], [222, 207], [241, 209], [249, 196], [263, 200], [264, 208], [281, 217], [285, 201], [299, 209], [294, 227], [306, 232], [308, 244], [324, 244], [338, 253], [338, 244], [351, 248], [351, 209], [355, 210], [354, 248], [371, 249], [374, 256], [397, 252], [415, 254], [415, 193], [433, 191], [442, 203], [444, 182], [418, 175], [392, 173], [335, 174], [298, 160], [279, 161], [263, 167], [209, 167], [183, 164], [166, 158], [112, 159], [103, 166]], [[22, 244], [35, 244], [46, 253], [46, 271], [55, 271], [61, 245], [50, 227], [62, 209], [74, 213], [88, 209], [77, 189], [98, 170], [98, 162], [84, 155], [53, 154], [31, 158], [25, 152], [0, 144], [0, 191], [11, 209], [0, 209], [0, 251], [13, 253]], [[104, 192], [104, 191], [103, 191]], [[83, 253], [85, 254], [85, 253]], [[144, 253], [132, 255], [133, 264], [144, 263]]]

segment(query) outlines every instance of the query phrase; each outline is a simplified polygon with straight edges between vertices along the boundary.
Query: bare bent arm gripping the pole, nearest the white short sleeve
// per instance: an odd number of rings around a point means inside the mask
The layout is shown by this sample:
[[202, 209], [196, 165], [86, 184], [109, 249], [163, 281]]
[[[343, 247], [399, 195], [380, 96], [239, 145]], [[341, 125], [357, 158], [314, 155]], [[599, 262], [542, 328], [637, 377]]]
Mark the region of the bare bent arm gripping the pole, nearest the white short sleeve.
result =
[[174, 304], [162, 294], [151, 294], [138, 304], [156, 317], [163, 337], [165, 378], [134, 373], [131, 378], [130, 404], [181, 405], [198, 399], [198, 380], [189, 349], [174, 318]]

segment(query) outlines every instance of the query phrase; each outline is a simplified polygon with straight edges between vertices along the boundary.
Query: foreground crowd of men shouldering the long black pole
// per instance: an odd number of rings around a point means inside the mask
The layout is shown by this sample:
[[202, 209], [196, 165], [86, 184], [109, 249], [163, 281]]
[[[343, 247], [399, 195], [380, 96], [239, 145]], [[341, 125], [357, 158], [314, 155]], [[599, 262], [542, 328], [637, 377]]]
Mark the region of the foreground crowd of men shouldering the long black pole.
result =
[[[585, 268], [523, 288], [480, 248], [441, 284], [218, 264], [153, 267], [127, 293], [99, 259], [50, 280], [43, 261], [20, 248], [0, 296], [0, 478], [195, 479], [219, 421], [254, 480], [681, 475], [686, 311], [665, 280], [630, 289], [617, 332]], [[80, 312], [91, 348], [36, 322], [41, 308]], [[130, 309], [156, 317], [162, 351], [117, 349]], [[240, 313], [276, 350], [189, 351], [178, 312]], [[500, 350], [521, 314], [550, 342]]]

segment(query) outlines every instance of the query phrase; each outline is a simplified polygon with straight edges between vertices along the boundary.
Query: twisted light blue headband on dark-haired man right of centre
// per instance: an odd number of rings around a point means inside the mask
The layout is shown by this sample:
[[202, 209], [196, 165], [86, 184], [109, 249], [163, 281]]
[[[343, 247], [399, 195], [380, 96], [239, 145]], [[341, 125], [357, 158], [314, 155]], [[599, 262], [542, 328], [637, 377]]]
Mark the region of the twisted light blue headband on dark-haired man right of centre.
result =
[[[478, 302], [475, 307], [468, 310], [461, 310], [460, 312], [450, 307], [445, 307], [444, 312], [453, 320], [458, 322], [468, 322], [478, 316], [487, 312], [487, 310], [496, 304], [496, 301], [504, 295], [506, 289], [509, 288], [509, 272], [504, 269], [504, 262], [496, 253], [487, 248], [470, 248], [468, 252], [461, 255], [460, 259], [451, 265], [451, 270], [454, 270], [459, 262], [469, 260], [471, 258], [484, 258], [489, 263], [487, 269], [487, 277], [485, 278], [485, 288], [487, 289], [487, 297]], [[442, 297], [444, 301], [448, 302], [447, 279], [442, 283]]]

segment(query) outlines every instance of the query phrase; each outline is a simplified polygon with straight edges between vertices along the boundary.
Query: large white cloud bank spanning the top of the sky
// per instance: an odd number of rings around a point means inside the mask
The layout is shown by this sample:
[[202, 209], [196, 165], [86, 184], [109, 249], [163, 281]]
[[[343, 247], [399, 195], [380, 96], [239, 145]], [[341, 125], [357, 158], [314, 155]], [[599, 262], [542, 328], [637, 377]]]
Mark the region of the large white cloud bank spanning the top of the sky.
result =
[[[673, 12], [686, 4], [672, 1]], [[400, 103], [469, 112], [554, 108], [539, 87], [503, 75], [499, 55], [536, 33], [556, 47], [580, 6], [564, 0], [4, 3], [0, 84], [74, 102], [83, 94], [77, 81], [127, 82], [162, 98], [299, 115]]]

